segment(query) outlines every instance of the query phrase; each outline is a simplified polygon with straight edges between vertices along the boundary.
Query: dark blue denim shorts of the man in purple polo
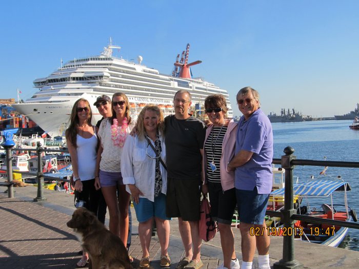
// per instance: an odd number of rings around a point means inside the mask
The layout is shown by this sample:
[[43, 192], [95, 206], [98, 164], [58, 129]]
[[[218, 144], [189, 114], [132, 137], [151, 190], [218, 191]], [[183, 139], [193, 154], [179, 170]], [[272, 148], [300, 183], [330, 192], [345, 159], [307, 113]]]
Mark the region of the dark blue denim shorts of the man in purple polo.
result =
[[269, 194], [258, 194], [253, 191], [235, 190], [240, 221], [249, 224], [263, 224], [266, 215]]

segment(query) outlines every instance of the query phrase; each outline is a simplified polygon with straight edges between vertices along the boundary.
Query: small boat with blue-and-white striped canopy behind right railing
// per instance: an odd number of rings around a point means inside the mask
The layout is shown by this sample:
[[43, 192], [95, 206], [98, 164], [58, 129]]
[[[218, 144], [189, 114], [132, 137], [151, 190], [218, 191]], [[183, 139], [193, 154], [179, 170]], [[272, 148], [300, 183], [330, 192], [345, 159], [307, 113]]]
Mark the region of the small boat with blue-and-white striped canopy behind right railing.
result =
[[[299, 204], [297, 214], [322, 219], [357, 221], [354, 210], [351, 210], [348, 206], [347, 191], [350, 190], [349, 183], [341, 179], [311, 180], [304, 183], [293, 184], [294, 194], [303, 197], [303, 200], [309, 200], [310, 197], [330, 197], [330, 205], [324, 203], [321, 208], [310, 208], [309, 203], [303, 206]], [[333, 204], [333, 192], [344, 192], [343, 204]], [[273, 196], [282, 196], [284, 195], [284, 189], [275, 190], [271, 194]], [[299, 201], [300, 200], [301, 199], [299, 199]], [[328, 225], [324, 223], [311, 223], [310, 221], [298, 220], [294, 224], [294, 227], [295, 229], [293, 231], [288, 231], [288, 233], [293, 233], [295, 238], [334, 247], [342, 242], [348, 232], [347, 227]], [[280, 231], [278, 232], [278, 235], [280, 235], [281, 232], [284, 231], [283, 226], [278, 227], [278, 230]]]

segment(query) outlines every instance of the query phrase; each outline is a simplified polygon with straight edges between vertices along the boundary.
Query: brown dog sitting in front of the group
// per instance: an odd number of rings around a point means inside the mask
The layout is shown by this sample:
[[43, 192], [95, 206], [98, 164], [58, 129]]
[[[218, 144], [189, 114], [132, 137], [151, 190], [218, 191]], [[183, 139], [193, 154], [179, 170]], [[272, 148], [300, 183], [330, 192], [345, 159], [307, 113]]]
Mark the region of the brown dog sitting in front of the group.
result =
[[72, 228], [89, 254], [92, 269], [130, 269], [126, 247], [118, 236], [108, 231], [96, 216], [85, 208], [72, 214], [67, 226]]

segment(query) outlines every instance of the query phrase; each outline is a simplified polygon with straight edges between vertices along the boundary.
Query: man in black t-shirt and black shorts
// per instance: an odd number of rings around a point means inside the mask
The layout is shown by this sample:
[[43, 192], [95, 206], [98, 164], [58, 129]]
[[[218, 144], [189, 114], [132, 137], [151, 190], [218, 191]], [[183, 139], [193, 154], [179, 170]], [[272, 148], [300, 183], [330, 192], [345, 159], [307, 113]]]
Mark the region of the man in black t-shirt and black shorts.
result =
[[[202, 239], [198, 232], [202, 184], [202, 153], [205, 124], [188, 114], [191, 94], [180, 90], [173, 98], [175, 114], [165, 118], [167, 162], [167, 217], [178, 217], [178, 227], [185, 247], [185, 257], [176, 268], [203, 266]], [[193, 245], [193, 246], [192, 246]]]

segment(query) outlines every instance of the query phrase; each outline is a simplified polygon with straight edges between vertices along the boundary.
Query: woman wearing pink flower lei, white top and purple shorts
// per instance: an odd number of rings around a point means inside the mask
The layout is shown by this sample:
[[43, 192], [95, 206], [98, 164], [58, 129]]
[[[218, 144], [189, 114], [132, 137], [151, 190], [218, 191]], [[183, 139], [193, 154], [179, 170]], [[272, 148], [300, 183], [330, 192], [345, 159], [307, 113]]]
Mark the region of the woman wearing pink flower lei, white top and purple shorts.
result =
[[[100, 145], [97, 152], [95, 187], [101, 188], [110, 214], [109, 230], [126, 245], [129, 229], [128, 204], [121, 175], [121, 155], [127, 134], [133, 125], [130, 104], [124, 93], [112, 96], [112, 116], [104, 119], [98, 130]], [[118, 197], [117, 197], [118, 189]]]

